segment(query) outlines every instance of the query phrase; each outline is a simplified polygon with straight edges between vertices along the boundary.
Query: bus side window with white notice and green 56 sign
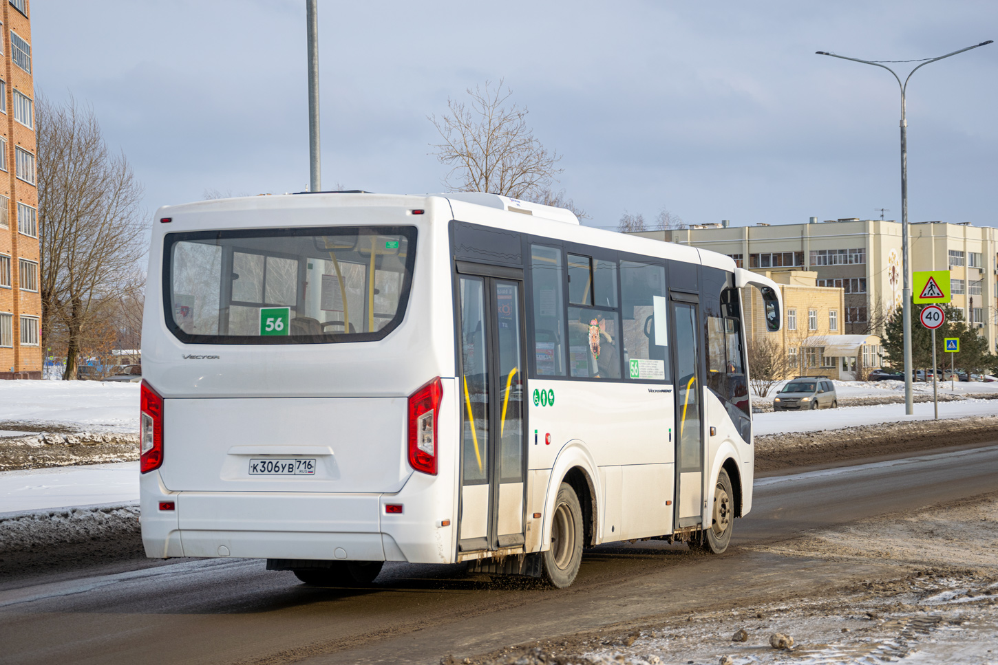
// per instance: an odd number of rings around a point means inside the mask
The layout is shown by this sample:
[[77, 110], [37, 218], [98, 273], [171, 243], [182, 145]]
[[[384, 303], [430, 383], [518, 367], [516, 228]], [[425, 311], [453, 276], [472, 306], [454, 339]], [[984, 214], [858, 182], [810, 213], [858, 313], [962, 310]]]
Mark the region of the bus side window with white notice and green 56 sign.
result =
[[665, 321], [661, 321], [665, 318], [665, 306], [660, 305], [658, 316], [655, 308], [656, 298], [664, 303], [665, 296], [666, 269], [663, 266], [621, 261], [622, 353], [625, 370], [631, 379], [668, 381], [672, 377], [669, 349], [665, 344], [658, 344], [668, 340]]

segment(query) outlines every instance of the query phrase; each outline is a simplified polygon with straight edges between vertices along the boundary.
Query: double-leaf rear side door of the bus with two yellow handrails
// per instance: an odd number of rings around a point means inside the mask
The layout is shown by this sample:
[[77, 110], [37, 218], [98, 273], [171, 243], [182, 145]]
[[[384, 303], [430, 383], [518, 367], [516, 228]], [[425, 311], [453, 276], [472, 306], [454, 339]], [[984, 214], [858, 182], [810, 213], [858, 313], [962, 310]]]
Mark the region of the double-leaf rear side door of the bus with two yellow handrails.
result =
[[526, 387], [522, 282], [459, 276], [461, 497], [458, 550], [524, 543]]

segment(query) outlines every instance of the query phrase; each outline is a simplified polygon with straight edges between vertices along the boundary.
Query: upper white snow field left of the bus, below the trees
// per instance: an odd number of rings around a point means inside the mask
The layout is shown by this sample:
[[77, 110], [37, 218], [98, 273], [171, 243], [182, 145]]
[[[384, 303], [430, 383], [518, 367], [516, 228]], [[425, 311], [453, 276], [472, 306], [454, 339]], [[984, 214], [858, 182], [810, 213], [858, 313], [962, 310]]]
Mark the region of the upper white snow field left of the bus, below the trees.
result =
[[0, 381], [0, 422], [60, 425], [84, 432], [139, 431], [139, 384]]

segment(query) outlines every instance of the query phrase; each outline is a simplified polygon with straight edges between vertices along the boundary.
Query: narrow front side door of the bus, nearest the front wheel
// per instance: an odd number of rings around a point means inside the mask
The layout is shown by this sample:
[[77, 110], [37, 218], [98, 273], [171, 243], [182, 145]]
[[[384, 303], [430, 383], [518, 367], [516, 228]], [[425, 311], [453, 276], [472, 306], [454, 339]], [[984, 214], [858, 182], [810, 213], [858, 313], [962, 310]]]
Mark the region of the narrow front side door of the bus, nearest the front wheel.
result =
[[[673, 297], [678, 297], [674, 294]], [[681, 297], [681, 296], [680, 296]], [[702, 521], [704, 501], [704, 427], [701, 343], [698, 335], [698, 305], [672, 302], [673, 367], [676, 368], [676, 515], [677, 526]]]

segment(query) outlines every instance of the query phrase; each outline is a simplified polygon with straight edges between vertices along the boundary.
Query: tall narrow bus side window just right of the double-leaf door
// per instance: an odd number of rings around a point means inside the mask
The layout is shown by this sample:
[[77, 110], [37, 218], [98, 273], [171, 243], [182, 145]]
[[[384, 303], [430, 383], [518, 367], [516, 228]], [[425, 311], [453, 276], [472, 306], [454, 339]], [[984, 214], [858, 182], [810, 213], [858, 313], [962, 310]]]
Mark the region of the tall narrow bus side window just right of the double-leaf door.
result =
[[561, 250], [530, 246], [534, 300], [534, 357], [538, 376], [565, 376], [565, 306]]

